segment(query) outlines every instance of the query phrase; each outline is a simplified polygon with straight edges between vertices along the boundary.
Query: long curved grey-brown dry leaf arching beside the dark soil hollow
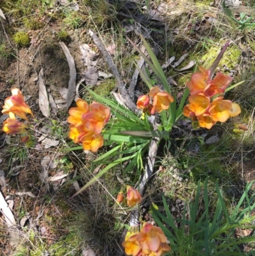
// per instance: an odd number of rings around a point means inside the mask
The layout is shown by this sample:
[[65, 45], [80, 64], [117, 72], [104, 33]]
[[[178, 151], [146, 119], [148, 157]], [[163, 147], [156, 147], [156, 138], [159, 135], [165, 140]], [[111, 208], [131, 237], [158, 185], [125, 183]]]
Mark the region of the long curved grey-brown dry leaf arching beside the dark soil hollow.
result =
[[73, 56], [71, 56], [71, 53], [66, 47], [66, 45], [61, 41], [59, 42], [62, 50], [64, 51], [64, 54], [66, 56], [66, 59], [68, 60], [68, 65], [69, 65], [69, 82], [68, 82], [68, 95], [66, 98], [66, 107], [69, 107], [71, 103], [73, 102], [73, 99], [75, 98], [75, 87], [76, 87], [76, 77], [77, 77], [77, 72], [75, 68], [75, 60], [73, 59]]

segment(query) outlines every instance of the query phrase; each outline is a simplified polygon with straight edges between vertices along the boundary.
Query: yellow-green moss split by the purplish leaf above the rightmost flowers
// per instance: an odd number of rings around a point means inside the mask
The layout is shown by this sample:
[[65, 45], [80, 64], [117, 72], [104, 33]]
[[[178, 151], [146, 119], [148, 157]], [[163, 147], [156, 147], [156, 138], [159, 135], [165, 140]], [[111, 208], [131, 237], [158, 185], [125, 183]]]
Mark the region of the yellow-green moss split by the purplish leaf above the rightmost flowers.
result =
[[[203, 61], [203, 66], [205, 68], [210, 68], [220, 51], [221, 47], [211, 47], [210, 49], [208, 49], [207, 53], [201, 57], [201, 61]], [[222, 68], [223, 65], [226, 65], [228, 68], [234, 69], [236, 64], [238, 63], [239, 57], [240, 50], [235, 45], [231, 45], [224, 53], [224, 56], [219, 62], [218, 67]]]

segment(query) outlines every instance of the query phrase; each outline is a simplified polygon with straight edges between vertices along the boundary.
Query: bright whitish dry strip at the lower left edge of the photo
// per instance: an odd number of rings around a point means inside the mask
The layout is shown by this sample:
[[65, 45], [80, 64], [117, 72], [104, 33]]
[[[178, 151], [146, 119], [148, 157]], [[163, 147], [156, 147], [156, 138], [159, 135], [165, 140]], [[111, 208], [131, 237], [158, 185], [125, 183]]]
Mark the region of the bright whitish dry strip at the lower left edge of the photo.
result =
[[11, 209], [8, 207], [8, 204], [4, 200], [3, 194], [1, 192], [0, 192], [0, 209], [1, 209], [1, 213], [4, 216], [5, 223], [8, 226], [8, 230], [10, 234], [10, 245], [11, 246], [18, 245], [20, 241], [20, 236], [18, 232], [17, 223], [15, 222], [15, 218], [11, 212]]

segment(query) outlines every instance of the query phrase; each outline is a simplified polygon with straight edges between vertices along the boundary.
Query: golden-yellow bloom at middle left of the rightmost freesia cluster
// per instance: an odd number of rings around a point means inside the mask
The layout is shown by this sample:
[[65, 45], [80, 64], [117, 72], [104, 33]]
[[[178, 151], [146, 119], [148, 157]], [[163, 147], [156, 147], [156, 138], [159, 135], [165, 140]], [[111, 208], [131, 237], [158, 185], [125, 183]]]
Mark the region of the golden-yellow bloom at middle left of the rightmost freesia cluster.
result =
[[210, 98], [202, 95], [189, 96], [189, 110], [194, 112], [196, 116], [205, 113], [210, 107]]

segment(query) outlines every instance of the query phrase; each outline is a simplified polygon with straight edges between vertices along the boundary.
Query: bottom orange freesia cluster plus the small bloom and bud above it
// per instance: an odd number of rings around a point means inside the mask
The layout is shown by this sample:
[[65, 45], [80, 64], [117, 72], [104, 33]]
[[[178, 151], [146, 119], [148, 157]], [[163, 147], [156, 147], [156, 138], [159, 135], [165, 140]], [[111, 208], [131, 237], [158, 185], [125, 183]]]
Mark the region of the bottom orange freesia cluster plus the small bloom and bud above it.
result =
[[[117, 196], [117, 202], [124, 199], [123, 192]], [[127, 203], [129, 207], [136, 206], [142, 202], [142, 196], [132, 186], [127, 186]], [[149, 223], [143, 223], [139, 231], [139, 226], [131, 227], [122, 243], [126, 255], [133, 256], [161, 256], [171, 250], [166, 244], [166, 236], [160, 227], [154, 227]]]

